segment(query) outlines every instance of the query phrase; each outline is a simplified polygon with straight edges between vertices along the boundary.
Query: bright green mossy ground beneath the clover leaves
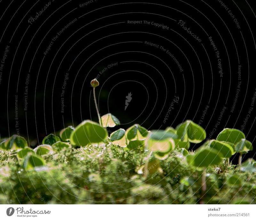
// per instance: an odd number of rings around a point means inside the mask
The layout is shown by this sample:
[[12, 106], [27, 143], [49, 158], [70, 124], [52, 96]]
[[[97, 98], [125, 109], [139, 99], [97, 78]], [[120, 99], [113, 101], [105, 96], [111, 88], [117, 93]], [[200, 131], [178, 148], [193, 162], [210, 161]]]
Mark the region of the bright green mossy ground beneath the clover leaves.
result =
[[[223, 162], [201, 174], [177, 152], [159, 162], [147, 179], [137, 174], [147, 152], [108, 144], [45, 155], [47, 169], [24, 170], [15, 154], [0, 152], [0, 204], [234, 204], [256, 203], [256, 175]], [[228, 185], [236, 173], [241, 184]]]

